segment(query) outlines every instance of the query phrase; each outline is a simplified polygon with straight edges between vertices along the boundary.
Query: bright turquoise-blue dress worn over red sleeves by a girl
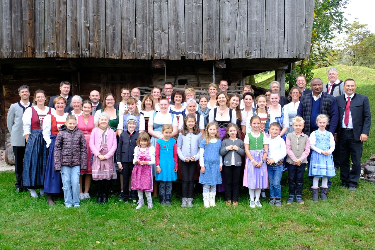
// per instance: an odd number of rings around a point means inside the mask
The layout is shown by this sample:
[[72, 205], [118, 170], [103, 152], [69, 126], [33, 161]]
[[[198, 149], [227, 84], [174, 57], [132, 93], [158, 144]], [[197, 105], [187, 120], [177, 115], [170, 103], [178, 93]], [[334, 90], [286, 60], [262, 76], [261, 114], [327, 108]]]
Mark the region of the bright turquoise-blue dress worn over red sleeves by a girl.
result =
[[173, 147], [176, 140], [171, 138], [168, 141], [162, 138], [156, 141], [160, 145], [159, 166], [162, 172], [156, 173], [155, 181], [175, 181], [177, 173], [174, 172]]

